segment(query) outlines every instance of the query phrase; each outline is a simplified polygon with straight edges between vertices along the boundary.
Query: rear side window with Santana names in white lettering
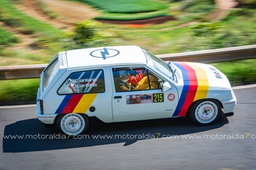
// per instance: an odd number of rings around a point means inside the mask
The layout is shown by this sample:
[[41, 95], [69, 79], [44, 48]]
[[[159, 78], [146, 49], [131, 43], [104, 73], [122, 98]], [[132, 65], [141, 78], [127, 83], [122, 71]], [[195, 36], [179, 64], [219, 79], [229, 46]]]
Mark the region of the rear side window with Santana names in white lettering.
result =
[[58, 89], [58, 94], [86, 94], [104, 91], [103, 70], [88, 70], [71, 73]]

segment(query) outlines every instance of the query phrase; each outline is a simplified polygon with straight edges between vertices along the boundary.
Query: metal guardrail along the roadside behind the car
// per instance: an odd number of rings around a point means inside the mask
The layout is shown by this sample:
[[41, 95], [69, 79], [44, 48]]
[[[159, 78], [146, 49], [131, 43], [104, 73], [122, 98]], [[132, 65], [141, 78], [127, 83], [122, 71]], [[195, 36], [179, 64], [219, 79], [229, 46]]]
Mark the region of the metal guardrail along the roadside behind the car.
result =
[[[167, 61], [220, 63], [256, 58], [256, 45], [156, 55]], [[40, 78], [47, 64], [0, 66], [0, 80]]]

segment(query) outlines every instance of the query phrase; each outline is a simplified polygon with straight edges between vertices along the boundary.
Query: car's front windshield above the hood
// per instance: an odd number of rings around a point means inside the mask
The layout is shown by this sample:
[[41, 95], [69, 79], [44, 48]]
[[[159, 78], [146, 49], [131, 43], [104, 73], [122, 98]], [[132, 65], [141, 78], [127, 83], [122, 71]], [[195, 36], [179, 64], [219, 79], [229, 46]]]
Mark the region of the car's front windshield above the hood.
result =
[[[165, 61], [157, 58], [155, 55], [147, 52], [147, 54], [149, 54], [151, 60], [152, 60], [152, 68], [154, 68], [155, 70], [159, 71], [161, 74], [164, 74], [166, 77], [168, 77], [169, 79], [175, 81], [177, 83], [177, 79], [175, 76], [175, 73], [172, 73], [168, 63], [166, 63]], [[170, 64], [170, 66], [173, 66]], [[174, 74], [174, 76], [173, 76]]]

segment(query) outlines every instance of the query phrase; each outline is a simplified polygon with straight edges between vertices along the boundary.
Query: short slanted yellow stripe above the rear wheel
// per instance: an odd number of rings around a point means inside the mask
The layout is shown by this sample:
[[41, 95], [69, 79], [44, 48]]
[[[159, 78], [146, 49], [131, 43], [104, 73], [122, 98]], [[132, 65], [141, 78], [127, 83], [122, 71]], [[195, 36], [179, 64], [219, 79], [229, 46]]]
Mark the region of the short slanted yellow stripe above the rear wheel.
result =
[[76, 105], [76, 108], [73, 110], [73, 113], [85, 114], [96, 96], [97, 94], [83, 95], [78, 104]]

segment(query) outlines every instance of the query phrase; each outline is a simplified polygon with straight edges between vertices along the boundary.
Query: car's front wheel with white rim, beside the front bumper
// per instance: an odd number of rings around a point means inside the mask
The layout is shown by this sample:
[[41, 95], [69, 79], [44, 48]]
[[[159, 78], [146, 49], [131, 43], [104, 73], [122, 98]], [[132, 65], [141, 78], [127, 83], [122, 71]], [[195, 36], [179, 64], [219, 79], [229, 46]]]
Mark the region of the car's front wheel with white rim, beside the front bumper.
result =
[[197, 125], [210, 125], [220, 118], [221, 106], [213, 99], [199, 100], [191, 106], [189, 115]]

